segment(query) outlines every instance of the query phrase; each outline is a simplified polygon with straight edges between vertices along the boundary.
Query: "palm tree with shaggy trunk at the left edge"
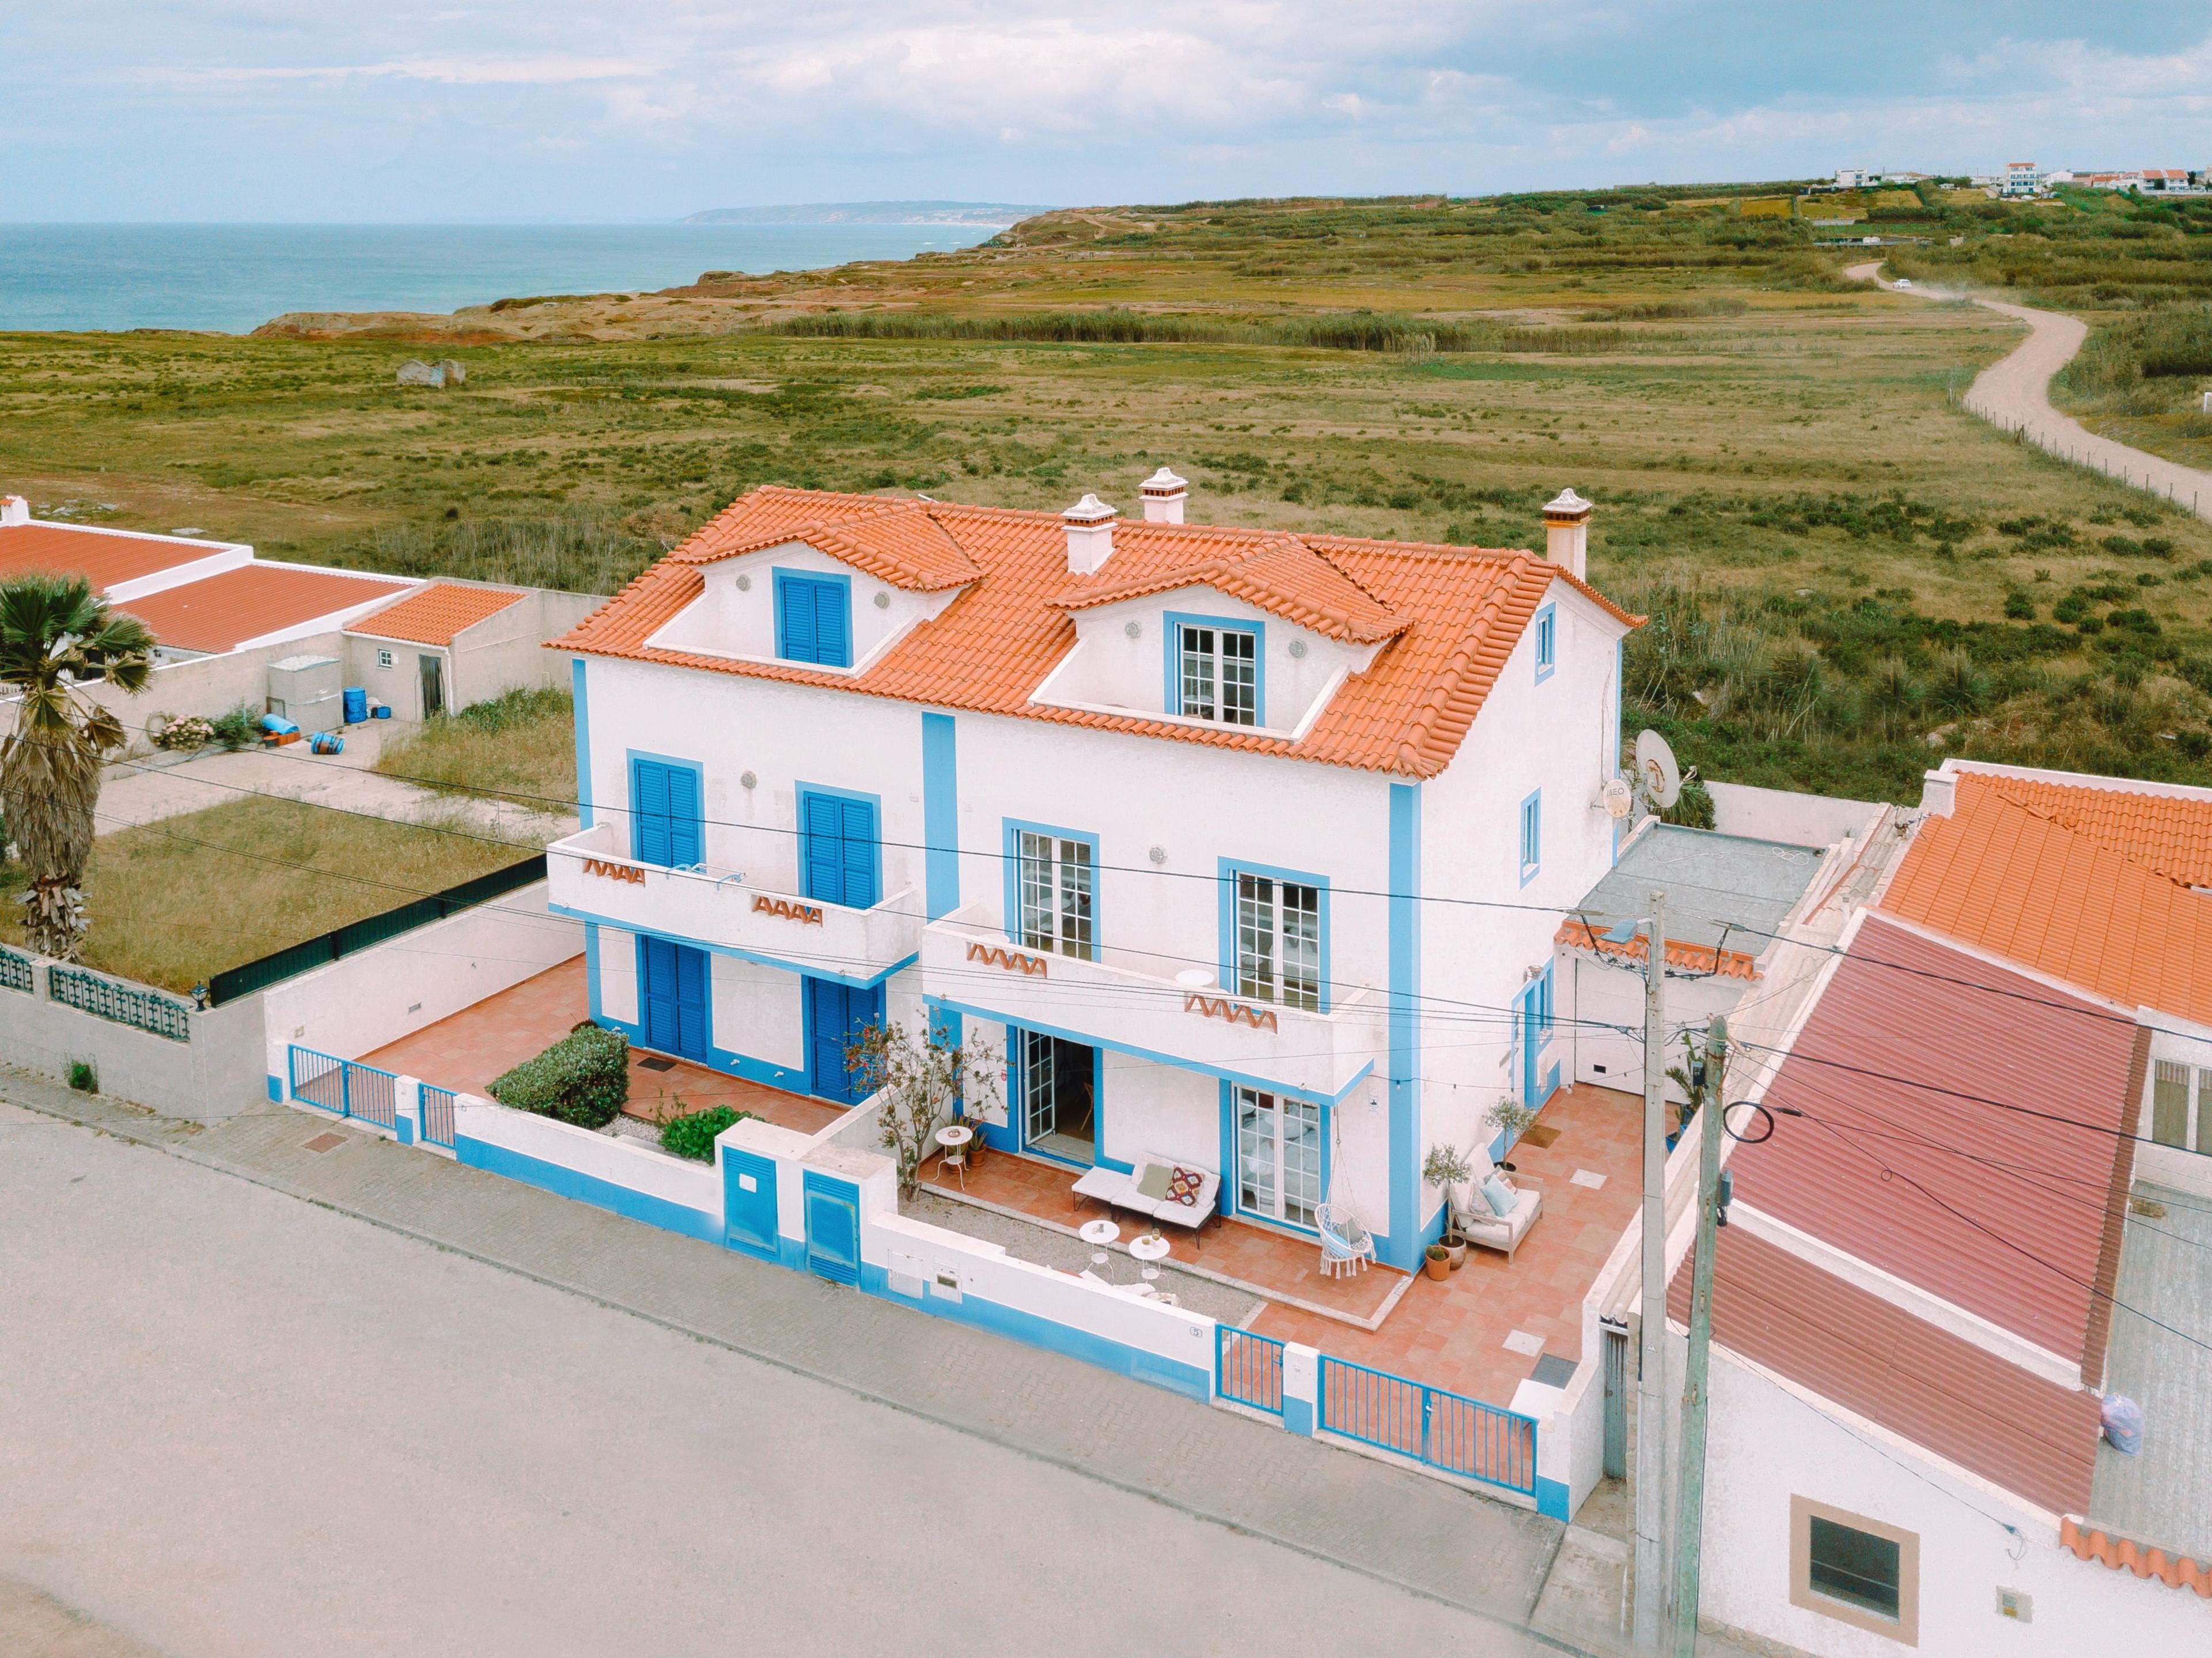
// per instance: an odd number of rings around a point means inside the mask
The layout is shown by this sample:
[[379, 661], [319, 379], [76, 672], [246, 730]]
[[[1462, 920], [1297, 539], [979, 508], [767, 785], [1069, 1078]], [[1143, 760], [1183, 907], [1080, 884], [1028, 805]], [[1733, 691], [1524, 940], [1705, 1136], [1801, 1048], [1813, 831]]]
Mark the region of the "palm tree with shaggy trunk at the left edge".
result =
[[137, 695], [153, 649], [153, 631], [111, 611], [82, 576], [0, 582], [0, 693], [20, 697], [0, 742], [0, 821], [31, 874], [24, 936], [46, 956], [75, 961], [84, 947], [100, 761], [124, 746], [122, 719], [82, 686], [106, 680]]

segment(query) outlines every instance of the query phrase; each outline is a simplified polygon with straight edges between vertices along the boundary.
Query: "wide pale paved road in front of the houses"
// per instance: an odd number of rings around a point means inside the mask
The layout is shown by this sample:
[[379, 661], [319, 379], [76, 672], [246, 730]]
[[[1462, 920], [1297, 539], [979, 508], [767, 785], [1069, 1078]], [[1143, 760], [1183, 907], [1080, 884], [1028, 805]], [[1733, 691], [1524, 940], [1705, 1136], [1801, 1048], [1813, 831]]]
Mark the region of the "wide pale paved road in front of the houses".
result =
[[[312, 1127], [283, 1118], [263, 1127], [288, 1144]], [[0, 1257], [9, 1651], [38, 1651], [33, 1631], [53, 1651], [175, 1658], [1562, 1649], [9, 1105]], [[1164, 1403], [1157, 1432], [1190, 1432]], [[1354, 1485], [1367, 1468], [1186, 1410], [1332, 1457]], [[1400, 1476], [1374, 1472], [1387, 1499]]]

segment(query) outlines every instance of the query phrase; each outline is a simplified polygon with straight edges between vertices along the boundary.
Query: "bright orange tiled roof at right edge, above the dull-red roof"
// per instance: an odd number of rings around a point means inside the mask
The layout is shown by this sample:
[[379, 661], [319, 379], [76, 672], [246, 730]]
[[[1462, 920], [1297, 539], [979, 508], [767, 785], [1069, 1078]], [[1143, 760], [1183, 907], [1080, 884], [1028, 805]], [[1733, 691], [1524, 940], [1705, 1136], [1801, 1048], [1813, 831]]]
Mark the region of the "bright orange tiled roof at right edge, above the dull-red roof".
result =
[[2008, 788], [1960, 775], [1951, 817], [1922, 821], [1882, 908], [2128, 1007], [2212, 1023], [2212, 897]]

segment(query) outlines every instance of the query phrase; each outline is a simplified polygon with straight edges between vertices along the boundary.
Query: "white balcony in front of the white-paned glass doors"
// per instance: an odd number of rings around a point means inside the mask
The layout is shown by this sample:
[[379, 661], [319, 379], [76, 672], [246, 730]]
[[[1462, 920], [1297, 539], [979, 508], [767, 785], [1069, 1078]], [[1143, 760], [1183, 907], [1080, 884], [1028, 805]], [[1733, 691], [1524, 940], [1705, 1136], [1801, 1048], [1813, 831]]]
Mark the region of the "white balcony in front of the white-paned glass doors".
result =
[[1385, 1007], [1371, 989], [1307, 1014], [1230, 996], [1212, 974], [1177, 981], [1115, 961], [1110, 950], [1104, 956], [1018, 950], [956, 910], [922, 928], [922, 994], [1009, 1025], [1329, 1100], [1383, 1060]]

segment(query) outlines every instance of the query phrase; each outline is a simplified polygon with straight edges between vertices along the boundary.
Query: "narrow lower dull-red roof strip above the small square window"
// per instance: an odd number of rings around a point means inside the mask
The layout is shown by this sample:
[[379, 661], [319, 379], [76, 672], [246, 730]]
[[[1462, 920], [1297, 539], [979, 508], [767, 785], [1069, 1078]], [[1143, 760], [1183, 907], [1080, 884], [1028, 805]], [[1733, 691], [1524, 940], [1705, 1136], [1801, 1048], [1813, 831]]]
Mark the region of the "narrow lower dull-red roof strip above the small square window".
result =
[[[1717, 1240], [1714, 1344], [2044, 1510], [2088, 1507], [2095, 1395], [2006, 1364], [1743, 1226]], [[1668, 1284], [1668, 1313], [1688, 1322], [1690, 1257]]]

